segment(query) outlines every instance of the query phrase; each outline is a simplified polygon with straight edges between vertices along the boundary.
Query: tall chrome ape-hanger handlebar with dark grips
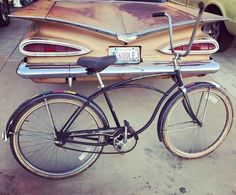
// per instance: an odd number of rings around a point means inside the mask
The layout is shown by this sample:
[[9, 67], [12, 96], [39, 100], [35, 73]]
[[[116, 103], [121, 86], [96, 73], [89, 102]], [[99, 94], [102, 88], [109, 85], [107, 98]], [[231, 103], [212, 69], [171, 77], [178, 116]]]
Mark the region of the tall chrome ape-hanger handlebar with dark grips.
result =
[[152, 17], [167, 17], [167, 19], [168, 19], [168, 30], [169, 30], [169, 36], [170, 36], [170, 48], [171, 48], [172, 54], [175, 55], [175, 56], [186, 57], [190, 53], [190, 50], [191, 50], [192, 45], [193, 45], [194, 38], [196, 36], [197, 29], [198, 29], [198, 26], [199, 26], [199, 23], [200, 23], [201, 18], [202, 18], [203, 11], [205, 9], [205, 5], [204, 5], [203, 2], [199, 2], [198, 3], [198, 7], [199, 7], [198, 16], [196, 18], [196, 22], [195, 22], [195, 25], [194, 25], [194, 28], [193, 28], [193, 32], [192, 32], [191, 38], [189, 40], [188, 49], [185, 51], [184, 54], [178, 53], [178, 52], [176, 52], [174, 50], [174, 44], [173, 44], [173, 25], [172, 25], [171, 16], [169, 14], [165, 13], [165, 12], [158, 12], [158, 13], [153, 13], [152, 14]]

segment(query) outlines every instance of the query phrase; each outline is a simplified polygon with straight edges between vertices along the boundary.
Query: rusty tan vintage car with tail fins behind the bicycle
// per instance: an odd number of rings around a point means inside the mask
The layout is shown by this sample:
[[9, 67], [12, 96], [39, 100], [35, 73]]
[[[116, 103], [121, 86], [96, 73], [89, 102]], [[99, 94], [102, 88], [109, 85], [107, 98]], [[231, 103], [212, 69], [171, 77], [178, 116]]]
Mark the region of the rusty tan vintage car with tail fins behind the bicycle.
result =
[[[101, 72], [105, 79], [173, 72], [168, 23], [157, 12], [173, 20], [174, 47], [184, 52], [195, 24], [197, 10], [171, 3], [141, 1], [37, 1], [12, 13], [31, 20], [32, 25], [19, 45], [26, 57], [17, 73], [35, 82], [66, 83], [93, 80], [77, 65], [81, 56], [116, 55], [117, 61]], [[201, 26], [224, 20], [204, 13]], [[219, 49], [216, 40], [201, 31], [196, 34], [190, 55], [181, 61], [185, 77], [219, 70], [210, 55]]]

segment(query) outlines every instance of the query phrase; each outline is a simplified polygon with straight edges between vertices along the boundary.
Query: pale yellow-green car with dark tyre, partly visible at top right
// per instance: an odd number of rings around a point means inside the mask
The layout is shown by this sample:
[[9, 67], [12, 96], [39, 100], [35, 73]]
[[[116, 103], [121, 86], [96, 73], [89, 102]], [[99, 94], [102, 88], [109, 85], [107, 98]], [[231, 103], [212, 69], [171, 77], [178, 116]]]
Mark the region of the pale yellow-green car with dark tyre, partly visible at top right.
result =
[[206, 11], [229, 18], [228, 21], [216, 22], [206, 25], [204, 30], [215, 38], [219, 45], [219, 51], [223, 52], [231, 45], [234, 35], [236, 35], [236, 12], [233, 5], [236, 0], [169, 0], [186, 7], [197, 7], [200, 1], [206, 5]]

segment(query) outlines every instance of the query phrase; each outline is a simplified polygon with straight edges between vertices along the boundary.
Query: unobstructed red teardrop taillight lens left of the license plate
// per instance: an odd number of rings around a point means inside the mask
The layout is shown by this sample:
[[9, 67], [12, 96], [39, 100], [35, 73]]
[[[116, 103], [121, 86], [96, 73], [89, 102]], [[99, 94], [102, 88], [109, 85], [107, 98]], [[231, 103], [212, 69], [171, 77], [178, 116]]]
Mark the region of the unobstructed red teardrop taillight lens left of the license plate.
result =
[[51, 44], [43, 44], [43, 43], [33, 43], [24, 46], [24, 51], [28, 52], [78, 52], [80, 49], [62, 46], [62, 45], [51, 45]]

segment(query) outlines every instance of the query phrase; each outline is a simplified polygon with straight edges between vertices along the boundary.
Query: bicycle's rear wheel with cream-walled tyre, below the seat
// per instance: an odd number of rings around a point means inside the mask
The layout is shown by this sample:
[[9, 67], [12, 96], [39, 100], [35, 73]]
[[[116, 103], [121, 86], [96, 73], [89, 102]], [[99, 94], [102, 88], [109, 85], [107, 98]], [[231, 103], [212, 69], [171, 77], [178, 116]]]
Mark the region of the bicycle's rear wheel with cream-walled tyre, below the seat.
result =
[[[60, 130], [72, 113], [84, 104], [78, 96], [54, 94], [41, 98], [31, 104], [22, 113], [14, 126], [10, 145], [16, 160], [28, 171], [47, 178], [66, 178], [90, 167], [99, 157], [102, 146], [65, 143], [63, 146], [74, 150], [86, 150], [95, 153], [78, 152], [60, 147], [55, 142], [52, 120]], [[87, 130], [104, 127], [104, 120], [94, 107], [86, 107], [77, 117], [69, 131]], [[78, 138], [73, 138], [77, 140]], [[103, 141], [98, 136], [94, 143]]]

